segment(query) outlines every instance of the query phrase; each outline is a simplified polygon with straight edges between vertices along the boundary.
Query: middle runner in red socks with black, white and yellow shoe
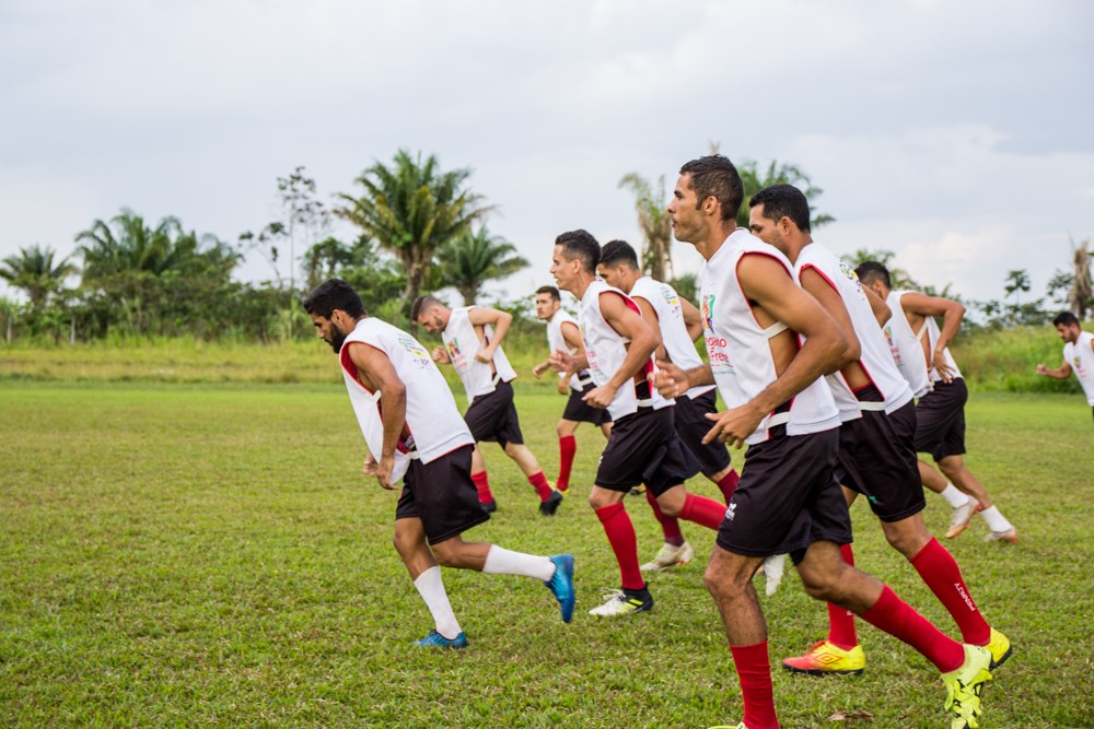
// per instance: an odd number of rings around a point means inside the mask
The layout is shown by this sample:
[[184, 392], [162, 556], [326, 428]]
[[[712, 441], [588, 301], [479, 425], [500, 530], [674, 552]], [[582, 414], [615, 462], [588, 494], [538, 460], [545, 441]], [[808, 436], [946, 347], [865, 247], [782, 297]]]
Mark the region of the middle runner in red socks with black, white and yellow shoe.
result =
[[718, 527], [725, 506], [684, 487], [699, 468], [676, 435], [675, 403], [652, 390], [648, 379], [661, 338], [629, 296], [596, 279], [600, 257], [600, 244], [585, 231], [562, 233], [555, 240], [550, 272], [558, 287], [580, 302], [585, 353], [555, 352], [551, 365], [559, 371], [587, 368], [596, 387], [584, 396], [585, 402], [612, 415], [612, 434], [589, 494], [619, 564], [620, 581], [620, 589], [590, 614], [612, 618], [653, 608], [638, 564], [635, 526], [622, 503], [631, 487], [644, 483], [665, 515], [708, 529]]

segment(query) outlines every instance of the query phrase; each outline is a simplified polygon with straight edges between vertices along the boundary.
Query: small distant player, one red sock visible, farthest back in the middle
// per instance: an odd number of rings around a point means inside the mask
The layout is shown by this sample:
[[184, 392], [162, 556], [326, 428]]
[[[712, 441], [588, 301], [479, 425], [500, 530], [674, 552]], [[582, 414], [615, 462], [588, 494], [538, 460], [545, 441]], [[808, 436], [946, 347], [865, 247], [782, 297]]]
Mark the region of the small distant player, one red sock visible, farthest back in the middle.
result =
[[[583, 354], [581, 332], [578, 322], [562, 308], [562, 297], [555, 286], [540, 286], [536, 290], [536, 316], [547, 322], [547, 345], [550, 352], [566, 351], [570, 354]], [[532, 369], [538, 379], [550, 369], [550, 355]], [[577, 373], [559, 373], [558, 391], [568, 395], [566, 410], [555, 426], [558, 434], [558, 480], [555, 489], [566, 494], [570, 489], [570, 470], [573, 468], [573, 457], [578, 452], [578, 440], [574, 433], [581, 423], [592, 423], [601, 428], [604, 437], [612, 432], [612, 418], [607, 410], [589, 405], [582, 398], [595, 387], [593, 377], [587, 371]]]

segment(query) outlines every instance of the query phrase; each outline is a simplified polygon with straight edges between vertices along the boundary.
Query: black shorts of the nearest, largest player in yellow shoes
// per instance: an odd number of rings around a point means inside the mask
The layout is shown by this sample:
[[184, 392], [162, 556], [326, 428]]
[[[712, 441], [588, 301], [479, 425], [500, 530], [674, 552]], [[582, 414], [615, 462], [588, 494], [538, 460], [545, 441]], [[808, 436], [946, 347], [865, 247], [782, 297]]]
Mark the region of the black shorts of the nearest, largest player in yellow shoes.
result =
[[850, 544], [851, 516], [833, 477], [838, 452], [838, 428], [789, 436], [785, 425], [772, 427], [745, 451], [718, 545], [746, 556], [789, 553], [798, 564], [813, 542]]

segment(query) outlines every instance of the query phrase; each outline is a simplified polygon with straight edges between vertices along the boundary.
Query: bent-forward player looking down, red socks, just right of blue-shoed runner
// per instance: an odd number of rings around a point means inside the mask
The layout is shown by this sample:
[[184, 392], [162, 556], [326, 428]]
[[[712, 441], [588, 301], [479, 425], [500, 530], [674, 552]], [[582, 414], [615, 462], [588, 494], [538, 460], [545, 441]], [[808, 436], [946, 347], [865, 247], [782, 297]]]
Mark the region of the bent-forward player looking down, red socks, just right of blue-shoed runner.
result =
[[[441, 334], [444, 346], [433, 349], [433, 360], [451, 364], [458, 373], [468, 402], [464, 420], [475, 443], [497, 442], [539, 495], [539, 513], [554, 516], [562, 503], [562, 494], [550, 487], [539, 461], [524, 445], [521, 421], [513, 404], [513, 386], [510, 385], [516, 372], [501, 349], [513, 315], [485, 306], [450, 309], [433, 296], [419, 296], [410, 307], [410, 318], [430, 333]], [[482, 508], [494, 510], [497, 502], [477, 445], [472, 459], [472, 479]]]

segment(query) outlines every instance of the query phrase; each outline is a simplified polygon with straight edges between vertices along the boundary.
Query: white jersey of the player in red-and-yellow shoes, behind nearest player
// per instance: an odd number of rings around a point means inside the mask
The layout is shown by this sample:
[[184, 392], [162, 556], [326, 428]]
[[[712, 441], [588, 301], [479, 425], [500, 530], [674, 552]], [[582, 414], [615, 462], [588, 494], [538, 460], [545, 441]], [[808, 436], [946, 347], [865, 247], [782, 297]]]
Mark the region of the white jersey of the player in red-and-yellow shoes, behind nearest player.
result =
[[859, 338], [861, 354], [859, 364], [866, 373], [871, 384], [877, 388], [882, 396], [882, 402], [860, 402], [843, 379], [841, 373], [835, 372], [825, 377], [828, 387], [831, 388], [833, 398], [839, 409], [839, 419], [842, 422], [862, 416], [862, 411], [873, 408], [883, 408], [886, 413], [894, 412], [911, 401], [911, 388], [907, 380], [900, 376], [896, 368], [896, 362], [888, 351], [885, 336], [874, 317], [874, 311], [870, 308], [870, 301], [862, 291], [859, 277], [850, 266], [841, 261], [830, 250], [819, 243], [811, 243], [802, 248], [798, 260], [794, 261], [794, 275], [801, 281], [802, 272], [812, 269], [821, 274], [828, 282], [839, 297], [843, 299], [843, 306], [851, 319], [851, 327]]

